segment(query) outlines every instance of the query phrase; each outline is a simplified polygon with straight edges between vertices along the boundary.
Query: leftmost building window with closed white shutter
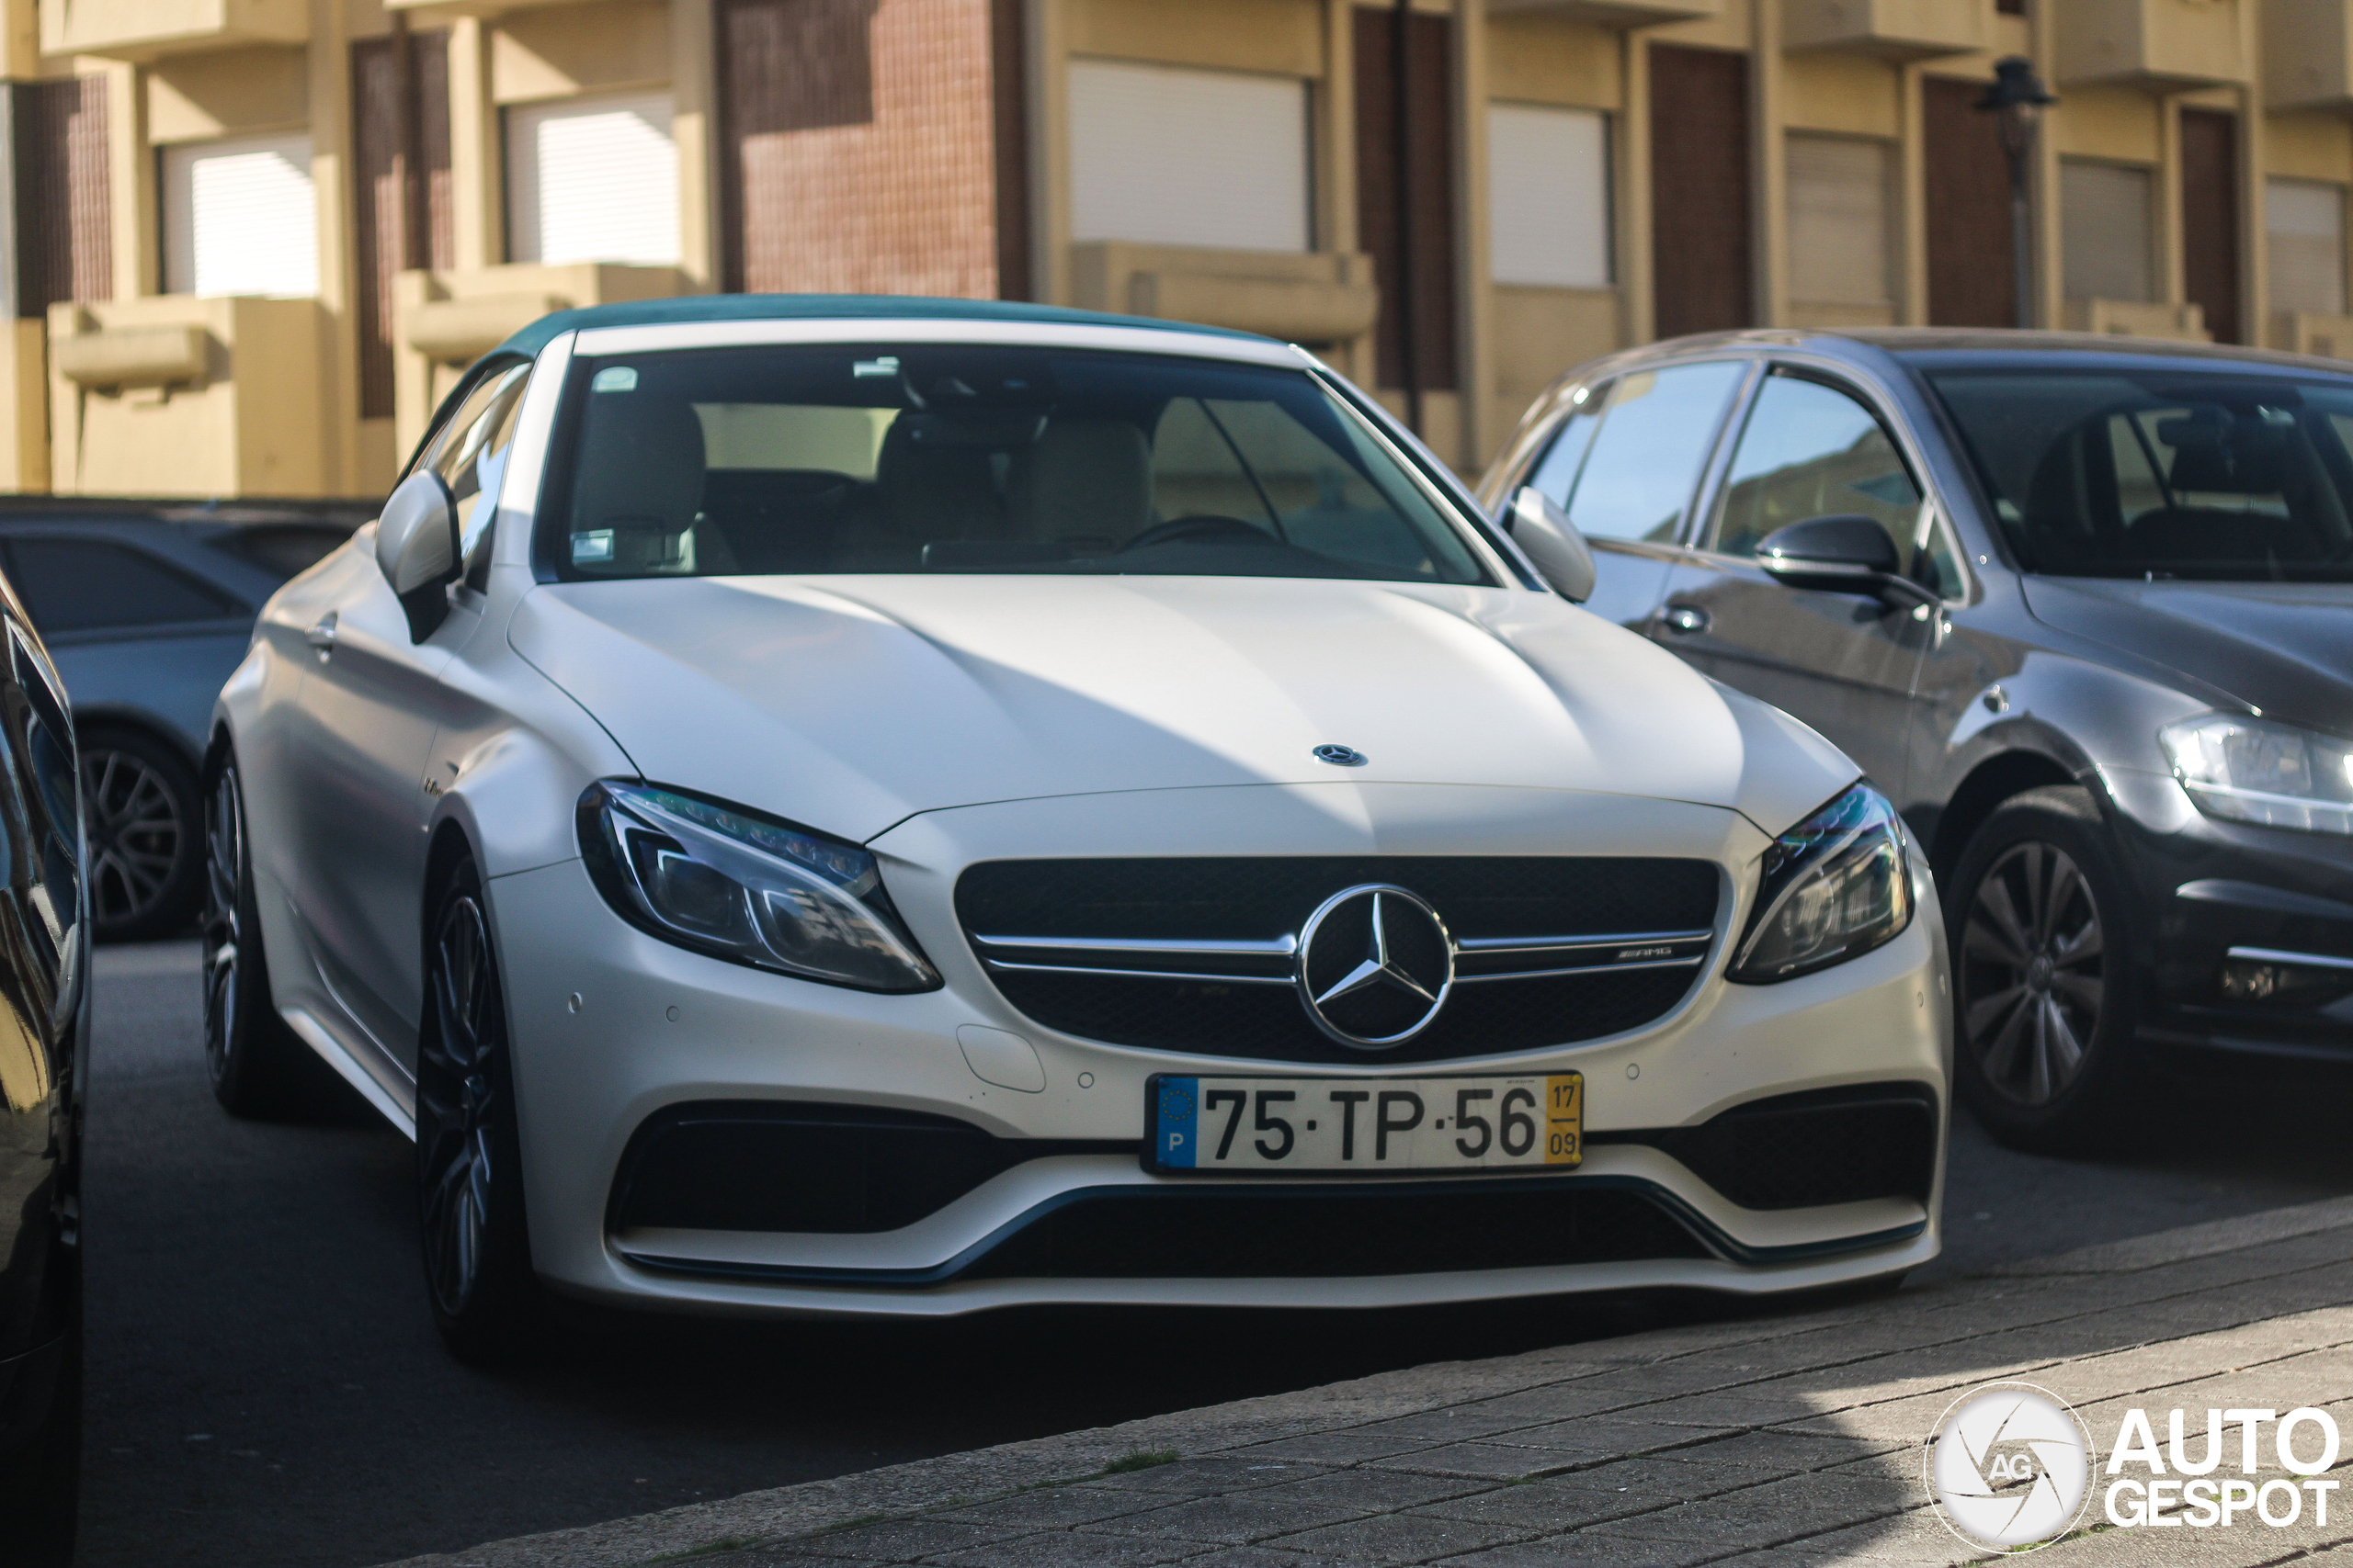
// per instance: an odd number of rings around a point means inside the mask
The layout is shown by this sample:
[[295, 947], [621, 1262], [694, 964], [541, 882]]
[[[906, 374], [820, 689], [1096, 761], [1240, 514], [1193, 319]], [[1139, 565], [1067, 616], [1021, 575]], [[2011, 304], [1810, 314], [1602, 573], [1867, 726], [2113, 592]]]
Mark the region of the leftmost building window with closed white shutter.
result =
[[165, 294], [318, 294], [308, 136], [162, 148]]

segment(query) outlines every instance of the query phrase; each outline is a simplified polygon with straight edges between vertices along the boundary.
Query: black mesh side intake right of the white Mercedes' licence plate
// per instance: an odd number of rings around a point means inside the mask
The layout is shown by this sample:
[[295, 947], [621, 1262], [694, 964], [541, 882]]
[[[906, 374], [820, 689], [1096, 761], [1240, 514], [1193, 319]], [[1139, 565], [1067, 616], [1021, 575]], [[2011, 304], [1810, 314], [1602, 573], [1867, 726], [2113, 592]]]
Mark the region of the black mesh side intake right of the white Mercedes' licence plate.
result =
[[1937, 1103], [1918, 1084], [1864, 1084], [1751, 1100], [1699, 1124], [1586, 1133], [1647, 1143], [1741, 1208], [1817, 1208], [1901, 1197], [1937, 1180]]

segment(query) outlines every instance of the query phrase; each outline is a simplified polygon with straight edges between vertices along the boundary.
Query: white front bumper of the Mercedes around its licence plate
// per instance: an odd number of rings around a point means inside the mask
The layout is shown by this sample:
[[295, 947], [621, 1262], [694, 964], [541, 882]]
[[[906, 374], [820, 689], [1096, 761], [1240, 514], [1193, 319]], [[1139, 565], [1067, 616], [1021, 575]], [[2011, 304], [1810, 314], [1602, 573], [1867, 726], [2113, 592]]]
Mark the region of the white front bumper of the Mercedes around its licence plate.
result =
[[[1391, 832], [1379, 835], [1379, 851], [1405, 853], [1400, 842], [1421, 853], [1494, 846], [1492, 827], [1482, 830], [1487, 844], [1466, 842], [1480, 818], [1478, 806], [1492, 802], [1464, 797], [1489, 792], [1426, 795], [1447, 799], [1419, 823], [1400, 820], [1409, 813], [1391, 806]], [[1529, 792], [1497, 795], [1525, 799]], [[1174, 818], [1162, 813], [1153, 823], [1153, 849], [1322, 849], [1301, 842], [1299, 823], [1261, 827], [1261, 844], [1235, 842], [1238, 835], [1249, 837], [1247, 827], [1238, 827], [1238, 816], [1249, 813], [1231, 806], [1176, 802]], [[1442, 832], [1445, 823], [1431, 816], [1452, 816], [1454, 832]], [[1560, 816], [1555, 802], [1551, 844], [1567, 825], [1588, 827], [1595, 842], [1609, 842], [1621, 853], [1659, 853], [1666, 846], [1746, 865], [1762, 851], [1762, 835], [1713, 809], [1584, 797], [1567, 809], [1574, 820], [1562, 823]], [[1198, 820], [1188, 825], [1184, 818]], [[1692, 846], [1694, 827], [1711, 835], [1701, 849]], [[560, 1291], [635, 1307], [941, 1316], [1031, 1302], [1381, 1307], [1649, 1286], [1765, 1293], [1901, 1272], [1937, 1255], [1951, 1009], [1925, 870], [1918, 872], [1920, 917], [1913, 926], [1852, 964], [1769, 987], [1727, 985], [1718, 973], [1727, 945], [1720, 940], [1692, 997], [1657, 1025], [1567, 1048], [1445, 1063], [1445, 1072], [1584, 1072], [1588, 1154], [1572, 1175], [1202, 1182], [1141, 1168], [1134, 1147], [1146, 1081], [1153, 1072], [1233, 1072], [1245, 1065], [1106, 1046], [1038, 1027], [1002, 1001], [948, 914], [953, 867], [1038, 853], [1047, 844], [1056, 853], [1134, 853], [1139, 837], [1136, 797], [948, 811], [885, 835], [875, 849], [887, 856], [892, 893], [946, 978], [944, 990], [901, 997], [809, 985], [659, 943], [614, 917], [579, 863], [494, 879], [489, 907], [515, 1041], [539, 1272]], [[1346, 839], [1346, 849], [1360, 849], [1365, 839], [1362, 825], [1346, 823], [1332, 823], [1329, 837]], [[1525, 839], [1504, 849], [1525, 851]], [[1725, 922], [1739, 929], [1741, 898], [1732, 903]], [[1042, 1088], [984, 1081], [979, 1067], [986, 1063], [967, 1060], [958, 1044], [960, 1027], [1024, 1037], [1035, 1048]], [[1282, 1067], [1381, 1077], [1379, 1067]], [[1005, 1074], [993, 1070], [993, 1077]], [[1767, 1095], [1866, 1084], [1913, 1086], [1932, 1107], [1925, 1126], [1937, 1147], [1925, 1192], [1915, 1197], [1744, 1208], [1666, 1147], [1612, 1143], [1612, 1133], [1638, 1128], [1692, 1128]], [[616, 1201], [631, 1140], [661, 1114], [694, 1103], [948, 1117], [995, 1140], [1052, 1140], [1056, 1152], [1021, 1159], [889, 1229], [828, 1234], [642, 1222], [645, 1215]], [[1551, 1192], [1588, 1211], [1638, 1201], [1668, 1215], [1689, 1244], [1666, 1248], [1675, 1255], [1600, 1253], [1598, 1260], [1438, 1269], [1405, 1260], [1381, 1272], [1315, 1274], [1240, 1262], [1219, 1269], [1214, 1258], [1200, 1262], [1200, 1246], [1191, 1251], [1195, 1262], [1165, 1276], [1139, 1272], [1134, 1262], [1089, 1274], [1085, 1258], [1052, 1272], [1005, 1262], [1024, 1255], [1007, 1251], [1012, 1239], [1035, 1237], [1056, 1215], [1068, 1220], [1089, 1206], [1111, 1206], [1134, 1215], [1134, 1225], [1151, 1225], [1153, 1215], [1219, 1201], [1231, 1204], [1242, 1225], [1257, 1225], [1278, 1213], [1306, 1213], [1320, 1201], [1332, 1208], [1318, 1213], [1329, 1215], [1362, 1215], [1367, 1206], [1407, 1213], [1417, 1204], [1424, 1206], [1419, 1213], [1442, 1213], [1442, 1204], [1471, 1201], [1480, 1192], [1499, 1201], [1534, 1201], [1534, 1194]], [[1198, 1215], [1184, 1222], [1198, 1229]], [[1026, 1255], [1040, 1253], [1033, 1246]], [[993, 1267], [991, 1258], [1000, 1262]]]

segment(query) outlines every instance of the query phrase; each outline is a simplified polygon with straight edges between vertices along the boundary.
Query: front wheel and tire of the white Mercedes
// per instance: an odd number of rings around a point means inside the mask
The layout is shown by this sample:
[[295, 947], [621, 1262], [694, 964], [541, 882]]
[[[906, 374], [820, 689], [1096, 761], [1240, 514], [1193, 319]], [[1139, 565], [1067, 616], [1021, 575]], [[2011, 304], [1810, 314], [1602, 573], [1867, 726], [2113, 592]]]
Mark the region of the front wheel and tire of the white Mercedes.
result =
[[546, 1298], [522, 1204], [506, 990], [473, 860], [449, 870], [431, 907], [416, 1032], [426, 1295], [452, 1356], [499, 1366], [544, 1345]]

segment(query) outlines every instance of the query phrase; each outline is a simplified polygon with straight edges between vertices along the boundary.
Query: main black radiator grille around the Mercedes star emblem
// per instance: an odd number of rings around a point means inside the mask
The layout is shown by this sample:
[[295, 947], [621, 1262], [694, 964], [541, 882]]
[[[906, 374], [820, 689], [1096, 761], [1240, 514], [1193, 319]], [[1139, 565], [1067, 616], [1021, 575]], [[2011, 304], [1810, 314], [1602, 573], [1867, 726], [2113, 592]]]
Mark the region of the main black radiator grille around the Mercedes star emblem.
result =
[[[1454, 940], [1715, 924], [1706, 860], [1569, 856], [991, 860], [955, 884], [967, 933], [1024, 938], [1278, 940], [1332, 893], [1388, 882], [1426, 898]], [[1631, 969], [1457, 985], [1419, 1037], [1381, 1053], [1419, 1063], [1598, 1039], [1673, 1009], [1699, 969]], [[1292, 1063], [1362, 1063], [1287, 987], [991, 971], [1049, 1030], [1122, 1046]]]

